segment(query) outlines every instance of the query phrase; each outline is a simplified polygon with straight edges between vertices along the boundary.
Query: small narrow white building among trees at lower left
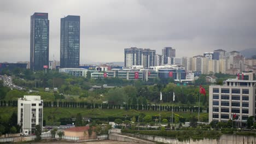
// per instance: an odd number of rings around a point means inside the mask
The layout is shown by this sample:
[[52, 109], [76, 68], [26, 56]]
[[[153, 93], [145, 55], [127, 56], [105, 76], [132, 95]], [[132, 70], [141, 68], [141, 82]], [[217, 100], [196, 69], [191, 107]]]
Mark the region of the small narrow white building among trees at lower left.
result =
[[21, 133], [34, 134], [36, 125], [43, 127], [43, 100], [38, 95], [18, 99], [18, 124]]

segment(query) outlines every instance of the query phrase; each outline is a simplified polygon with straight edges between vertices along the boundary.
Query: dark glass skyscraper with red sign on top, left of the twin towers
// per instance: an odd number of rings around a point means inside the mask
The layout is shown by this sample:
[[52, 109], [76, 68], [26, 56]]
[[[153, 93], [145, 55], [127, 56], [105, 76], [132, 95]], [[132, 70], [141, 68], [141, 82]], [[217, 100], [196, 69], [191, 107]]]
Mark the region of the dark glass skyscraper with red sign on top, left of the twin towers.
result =
[[42, 70], [49, 64], [48, 13], [34, 13], [30, 25], [30, 69]]

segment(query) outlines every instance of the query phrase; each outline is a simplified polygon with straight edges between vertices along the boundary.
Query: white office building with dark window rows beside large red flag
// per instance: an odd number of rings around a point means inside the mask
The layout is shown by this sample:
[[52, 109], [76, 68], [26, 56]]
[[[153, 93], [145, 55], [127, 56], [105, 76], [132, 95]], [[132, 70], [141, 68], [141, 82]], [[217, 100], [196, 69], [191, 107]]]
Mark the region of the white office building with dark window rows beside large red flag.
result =
[[209, 88], [209, 123], [227, 122], [233, 119], [245, 124], [249, 116], [255, 116], [256, 81], [253, 73], [240, 73], [237, 79], [228, 79], [223, 85]]

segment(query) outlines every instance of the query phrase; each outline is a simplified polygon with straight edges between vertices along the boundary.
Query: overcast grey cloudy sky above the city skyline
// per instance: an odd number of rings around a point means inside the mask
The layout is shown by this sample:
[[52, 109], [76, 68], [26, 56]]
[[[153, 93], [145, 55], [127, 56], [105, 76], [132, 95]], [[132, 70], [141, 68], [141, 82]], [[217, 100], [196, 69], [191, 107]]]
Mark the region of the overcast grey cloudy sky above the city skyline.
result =
[[[80, 15], [80, 62], [124, 61], [124, 49], [172, 46], [176, 57], [256, 47], [256, 1], [0, 1], [0, 62], [29, 61], [30, 16], [49, 13], [50, 59], [60, 59], [60, 18]], [[55, 57], [53, 57], [55, 56]]]

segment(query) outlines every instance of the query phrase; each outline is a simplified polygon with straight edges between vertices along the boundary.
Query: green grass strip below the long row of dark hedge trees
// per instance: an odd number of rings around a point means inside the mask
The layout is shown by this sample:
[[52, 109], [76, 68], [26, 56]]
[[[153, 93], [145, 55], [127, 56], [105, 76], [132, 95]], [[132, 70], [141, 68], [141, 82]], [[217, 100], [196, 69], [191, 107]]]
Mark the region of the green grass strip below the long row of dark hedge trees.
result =
[[[11, 113], [17, 111], [17, 107], [0, 107], [0, 116], [8, 118], [11, 116]], [[137, 111], [137, 110], [109, 110], [109, 109], [83, 109], [83, 108], [67, 108], [67, 107], [44, 107], [43, 117], [46, 121], [46, 125], [48, 122], [53, 122], [53, 120], [48, 121], [48, 117], [55, 117], [55, 122], [58, 121], [59, 118], [69, 118], [75, 117], [77, 113], [82, 113], [83, 117], [88, 118], [97, 118], [97, 117], [125, 117], [127, 116], [137, 116], [139, 113], [145, 113], [150, 116], [158, 116], [159, 111]], [[189, 118], [192, 116], [197, 116], [197, 112], [173, 112], [174, 116], [180, 116], [184, 118]], [[170, 117], [172, 112], [163, 111], [161, 112], [161, 116]], [[200, 113], [200, 117], [207, 118], [208, 113]]]

